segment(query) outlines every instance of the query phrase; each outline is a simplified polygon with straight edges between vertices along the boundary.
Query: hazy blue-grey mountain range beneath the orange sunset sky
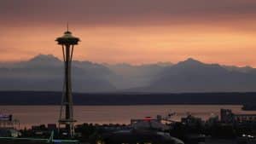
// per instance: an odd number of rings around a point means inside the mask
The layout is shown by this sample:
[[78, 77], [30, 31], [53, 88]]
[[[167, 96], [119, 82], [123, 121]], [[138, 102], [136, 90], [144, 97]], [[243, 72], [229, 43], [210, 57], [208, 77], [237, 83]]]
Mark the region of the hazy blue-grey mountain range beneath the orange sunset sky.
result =
[[[177, 64], [158, 62], [99, 64], [73, 61], [73, 91], [88, 93], [247, 92], [256, 91], [256, 69], [206, 64], [189, 58]], [[0, 63], [0, 90], [61, 91], [63, 62], [54, 55]]]

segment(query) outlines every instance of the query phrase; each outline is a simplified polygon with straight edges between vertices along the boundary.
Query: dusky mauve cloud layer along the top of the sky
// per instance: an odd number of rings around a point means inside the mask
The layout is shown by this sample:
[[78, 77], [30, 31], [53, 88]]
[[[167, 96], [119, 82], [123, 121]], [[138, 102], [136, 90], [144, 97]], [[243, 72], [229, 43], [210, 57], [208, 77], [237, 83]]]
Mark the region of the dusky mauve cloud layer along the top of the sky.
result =
[[82, 25], [150, 25], [168, 21], [216, 20], [256, 14], [252, 0], [3, 0], [1, 22]]

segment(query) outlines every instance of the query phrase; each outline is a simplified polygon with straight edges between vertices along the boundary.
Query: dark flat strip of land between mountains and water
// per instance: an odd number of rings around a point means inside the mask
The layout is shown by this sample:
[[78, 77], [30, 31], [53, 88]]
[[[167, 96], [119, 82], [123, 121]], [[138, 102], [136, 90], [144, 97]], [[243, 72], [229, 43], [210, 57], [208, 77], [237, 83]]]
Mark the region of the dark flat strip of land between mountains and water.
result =
[[[76, 106], [243, 105], [256, 101], [256, 92], [230, 93], [73, 93]], [[61, 92], [0, 91], [0, 105], [60, 105]]]

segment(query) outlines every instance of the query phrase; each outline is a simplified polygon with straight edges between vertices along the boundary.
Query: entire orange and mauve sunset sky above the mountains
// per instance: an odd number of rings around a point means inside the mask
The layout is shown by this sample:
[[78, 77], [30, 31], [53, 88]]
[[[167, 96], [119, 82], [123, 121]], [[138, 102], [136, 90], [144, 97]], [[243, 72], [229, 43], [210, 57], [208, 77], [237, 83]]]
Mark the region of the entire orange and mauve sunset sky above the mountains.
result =
[[77, 60], [256, 66], [254, 0], [0, 0], [0, 61], [61, 58], [67, 21]]

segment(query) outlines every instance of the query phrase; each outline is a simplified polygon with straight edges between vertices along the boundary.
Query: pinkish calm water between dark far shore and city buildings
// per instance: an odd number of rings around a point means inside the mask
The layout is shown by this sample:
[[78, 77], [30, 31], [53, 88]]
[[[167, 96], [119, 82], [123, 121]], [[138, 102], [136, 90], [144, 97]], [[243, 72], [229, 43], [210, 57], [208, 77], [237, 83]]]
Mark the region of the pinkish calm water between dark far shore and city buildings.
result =
[[[157, 106], [75, 106], [74, 118], [81, 123], [130, 124], [131, 118], [166, 116], [170, 112], [177, 115], [172, 120], [179, 121], [189, 113], [207, 119], [219, 115], [221, 108], [235, 113], [255, 113], [241, 111], [241, 106], [230, 105], [157, 105]], [[20, 128], [38, 124], [55, 124], [59, 118], [59, 106], [0, 106], [0, 113], [13, 114], [20, 120]]]

